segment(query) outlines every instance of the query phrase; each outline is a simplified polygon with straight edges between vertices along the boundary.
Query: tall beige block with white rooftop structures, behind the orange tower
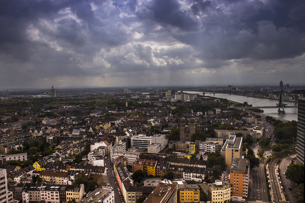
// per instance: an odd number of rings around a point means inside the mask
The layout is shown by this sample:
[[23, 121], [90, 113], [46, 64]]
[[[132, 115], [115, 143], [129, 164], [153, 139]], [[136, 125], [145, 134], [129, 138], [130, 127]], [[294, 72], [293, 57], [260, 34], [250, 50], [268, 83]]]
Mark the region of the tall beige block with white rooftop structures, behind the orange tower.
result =
[[227, 165], [227, 171], [230, 171], [233, 158], [242, 158], [242, 137], [236, 137], [231, 135], [224, 143], [224, 146], [220, 152], [221, 156], [224, 157]]

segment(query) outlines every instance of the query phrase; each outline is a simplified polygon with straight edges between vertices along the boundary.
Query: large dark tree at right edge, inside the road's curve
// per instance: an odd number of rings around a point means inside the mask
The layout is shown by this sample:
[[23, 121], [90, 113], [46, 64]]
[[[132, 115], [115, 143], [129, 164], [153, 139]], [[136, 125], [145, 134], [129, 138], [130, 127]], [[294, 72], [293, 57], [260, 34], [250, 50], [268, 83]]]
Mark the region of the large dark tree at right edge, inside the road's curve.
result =
[[304, 164], [289, 164], [286, 170], [286, 177], [296, 184], [304, 183]]

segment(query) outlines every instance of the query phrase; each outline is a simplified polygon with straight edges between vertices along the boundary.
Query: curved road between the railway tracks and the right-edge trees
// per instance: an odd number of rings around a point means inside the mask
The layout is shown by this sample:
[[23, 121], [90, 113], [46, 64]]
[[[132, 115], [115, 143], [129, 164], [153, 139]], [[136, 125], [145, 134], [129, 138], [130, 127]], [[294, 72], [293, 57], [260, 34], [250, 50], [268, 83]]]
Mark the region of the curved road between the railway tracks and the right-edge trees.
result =
[[280, 165], [280, 173], [281, 173], [281, 176], [282, 176], [282, 183], [284, 184], [285, 192], [287, 194], [289, 202], [296, 202], [296, 200], [292, 195], [292, 190], [288, 189], [289, 187], [292, 186], [293, 183], [290, 180], [286, 179], [286, 176], [284, 175], [284, 173], [286, 172], [287, 166], [291, 163], [291, 160], [293, 158], [296, 158], [296, 154], [285, 158]]

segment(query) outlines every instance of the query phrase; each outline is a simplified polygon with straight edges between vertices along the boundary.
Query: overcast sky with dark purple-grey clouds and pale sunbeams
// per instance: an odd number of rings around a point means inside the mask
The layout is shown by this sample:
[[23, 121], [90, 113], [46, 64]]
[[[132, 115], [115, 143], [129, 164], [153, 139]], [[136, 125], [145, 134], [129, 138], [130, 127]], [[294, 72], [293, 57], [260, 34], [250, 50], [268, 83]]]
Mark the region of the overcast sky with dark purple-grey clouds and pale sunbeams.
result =
[[305, 82], [303, 0], [1, 0], [0, 89]]

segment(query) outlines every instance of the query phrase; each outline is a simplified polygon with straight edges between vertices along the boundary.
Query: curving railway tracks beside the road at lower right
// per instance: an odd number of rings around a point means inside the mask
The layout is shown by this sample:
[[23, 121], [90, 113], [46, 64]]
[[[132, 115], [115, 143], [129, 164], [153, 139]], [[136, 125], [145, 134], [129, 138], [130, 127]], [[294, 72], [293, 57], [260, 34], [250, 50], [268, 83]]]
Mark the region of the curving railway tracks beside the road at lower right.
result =
[[268, 170], [269, 170], [269, 175], [270, 175], [270, 179], [271, 179], [270, 183], [271, 183], [272, 192], [273, 192], [273, 196], [274, 196], [274, 202], [282, 202], [282, 196], [281, 196], [281, 192], [278, 187], [278, 181], [276, 178], [277, 169], [275, 167], [277, 164], [279, 164], [281, 162], [282, 158], [284, 158], [288, 155], [292, 155], [292, 154], [296, 154], [296, 151], [275, 156], [274, 158], [272, 158], [270, 160], [270, 162], [268, 164]]

